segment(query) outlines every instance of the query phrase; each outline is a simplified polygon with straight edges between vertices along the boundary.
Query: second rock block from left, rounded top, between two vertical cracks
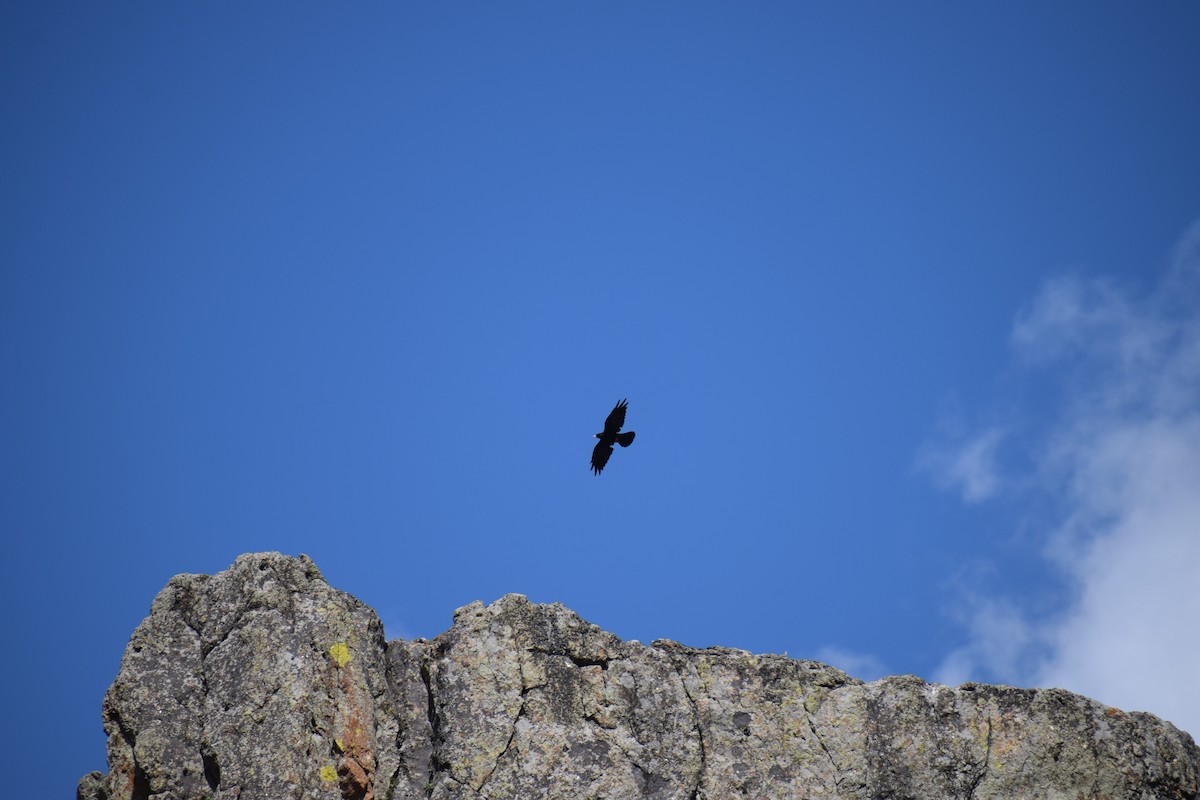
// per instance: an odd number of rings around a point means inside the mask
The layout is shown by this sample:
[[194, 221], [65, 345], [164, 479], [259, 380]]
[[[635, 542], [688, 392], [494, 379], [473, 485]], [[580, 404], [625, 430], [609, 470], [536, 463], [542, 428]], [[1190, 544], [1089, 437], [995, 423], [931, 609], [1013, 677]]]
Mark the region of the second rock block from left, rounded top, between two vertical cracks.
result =
[[430, 654], [433, 798], [688, 798], [702, 757], [671, 658], [559, 604], [473, 603]]

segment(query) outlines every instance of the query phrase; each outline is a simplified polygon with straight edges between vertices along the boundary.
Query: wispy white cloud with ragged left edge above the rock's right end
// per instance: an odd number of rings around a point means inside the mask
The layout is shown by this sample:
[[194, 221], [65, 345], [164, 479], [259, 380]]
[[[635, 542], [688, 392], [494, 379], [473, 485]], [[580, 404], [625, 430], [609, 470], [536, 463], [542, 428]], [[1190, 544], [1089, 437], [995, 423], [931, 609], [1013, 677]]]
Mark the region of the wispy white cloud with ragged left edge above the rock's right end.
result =
[[[1068, 601], [1037, 615], [1020, 597], [971, 601], [940, 678], [1062, 686], [1200, 733], [1200, 224], [1150, 291], [1049, 282], [1012, 344], [1020, 379], [1056, 386], [1031, 426], [1038, 488], [1019, 491], [1055, 506], [1044, 555]], [[990, 435], [974, 438], [990, 482], [960, 480], [965, 500], [1006, 486]]]

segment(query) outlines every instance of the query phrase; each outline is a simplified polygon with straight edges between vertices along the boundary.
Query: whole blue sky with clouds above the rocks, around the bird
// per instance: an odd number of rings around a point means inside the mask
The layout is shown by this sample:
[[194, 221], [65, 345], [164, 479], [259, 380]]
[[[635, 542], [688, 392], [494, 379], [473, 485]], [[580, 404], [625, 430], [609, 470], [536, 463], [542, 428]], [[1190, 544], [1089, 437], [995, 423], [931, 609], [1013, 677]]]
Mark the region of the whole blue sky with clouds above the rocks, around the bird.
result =
[[391, 637], [517, 591], [1200, 730], [1196, 42], [1190, 2], [6, 4], [17, 794], [103, 766], [170, 576], [266, 549]]

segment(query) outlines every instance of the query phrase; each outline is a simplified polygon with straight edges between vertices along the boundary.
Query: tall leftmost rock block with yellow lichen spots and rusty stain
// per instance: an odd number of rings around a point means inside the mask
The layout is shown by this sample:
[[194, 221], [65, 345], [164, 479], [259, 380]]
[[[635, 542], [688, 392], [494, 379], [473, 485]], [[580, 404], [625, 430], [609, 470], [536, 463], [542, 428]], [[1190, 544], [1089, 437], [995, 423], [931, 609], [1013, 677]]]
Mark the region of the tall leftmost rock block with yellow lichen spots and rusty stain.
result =
[[104, 697], [108, 796], [373, 800], [397, 759], [384, 649], [306, 557], [172, 578]]

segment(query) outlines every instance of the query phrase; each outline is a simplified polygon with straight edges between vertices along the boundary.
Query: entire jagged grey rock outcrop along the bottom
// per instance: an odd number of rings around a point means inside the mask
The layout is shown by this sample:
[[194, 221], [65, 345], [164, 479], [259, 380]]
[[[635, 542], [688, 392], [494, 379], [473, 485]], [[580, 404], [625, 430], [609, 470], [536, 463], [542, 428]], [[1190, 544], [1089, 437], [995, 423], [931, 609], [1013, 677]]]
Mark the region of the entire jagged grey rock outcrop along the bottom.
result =
[[107, 775], [151, 798], [1198, 798], [1200, 751], [1060, 690], [623, 642], [508, 595], [385, 642], [313, 563], [173, 578], [104, 697]]

